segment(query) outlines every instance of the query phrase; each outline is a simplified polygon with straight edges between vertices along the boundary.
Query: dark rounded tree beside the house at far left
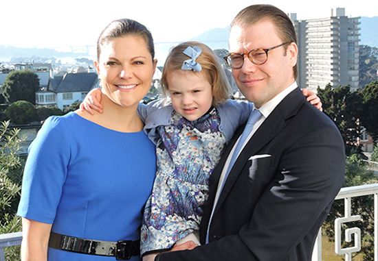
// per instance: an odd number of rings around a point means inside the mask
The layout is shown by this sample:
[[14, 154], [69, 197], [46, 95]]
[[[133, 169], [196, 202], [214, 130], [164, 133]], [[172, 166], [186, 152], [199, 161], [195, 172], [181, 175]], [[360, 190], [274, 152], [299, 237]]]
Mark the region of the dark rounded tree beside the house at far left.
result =
[[27, 70], [12, 71], [1, 85], [1, 94], [7, 103], [24, 100], [35, 104], [38, 88], [39, 79], [35, 73]]

